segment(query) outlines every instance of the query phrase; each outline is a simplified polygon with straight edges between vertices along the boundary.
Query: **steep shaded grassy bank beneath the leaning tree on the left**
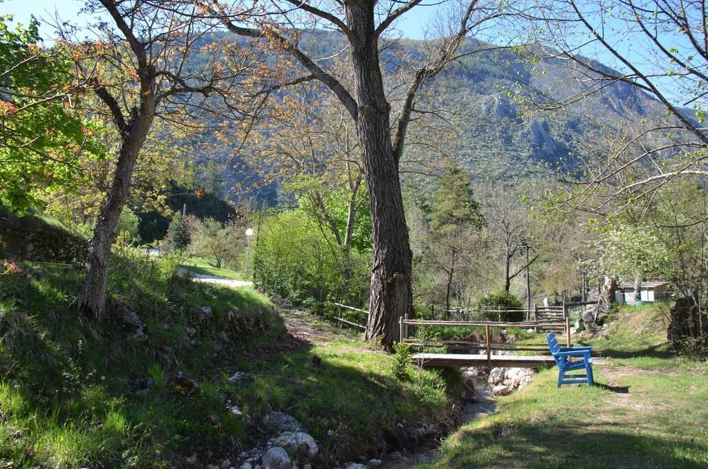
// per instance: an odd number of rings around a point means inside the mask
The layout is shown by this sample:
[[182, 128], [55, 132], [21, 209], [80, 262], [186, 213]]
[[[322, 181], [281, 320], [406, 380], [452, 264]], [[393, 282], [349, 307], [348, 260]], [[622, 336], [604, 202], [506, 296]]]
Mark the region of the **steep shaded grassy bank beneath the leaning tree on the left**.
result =
[[[108, 313], [96, 322], [74, 308], [80, 266], [18, 265], [21, 273], [0, 276], [1, 460], [173, 467], [191, 451], [227, 453], [249, 441], [248, 422], [224, 410], [231, 390], [210, 370], [283, 337], [267, 298], [190, 282], [170, 256], [148, 261], [125, 250], [114, 256]], [[147, 324], [147, 339], [126, 339], [125, 311]], [[194, 341], [187, 326], [197, 329]], [[200, 388], [174, 392], [173, 371]], [[152, 378], [154, 388], [133, 395], [132, 378]]]

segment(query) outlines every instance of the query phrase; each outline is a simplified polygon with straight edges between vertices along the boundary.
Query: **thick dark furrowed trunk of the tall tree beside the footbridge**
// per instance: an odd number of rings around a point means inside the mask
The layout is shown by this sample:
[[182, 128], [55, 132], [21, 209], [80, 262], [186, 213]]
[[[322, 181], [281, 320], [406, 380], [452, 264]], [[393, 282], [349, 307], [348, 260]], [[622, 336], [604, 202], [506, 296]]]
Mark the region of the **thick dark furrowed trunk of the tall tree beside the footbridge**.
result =
[[394, 155], [386, 100], [375, 40], [373, 1], [346, 4], [352, 30], [350, 39], [358, 103], [357, 133], [364, 157], [371, 202], [374, 247], [369, 320], [366, 339], [384, 346], [400, 340], [399, 317], [413, 312], [411, 252], [399, 181], [399, 162]]

